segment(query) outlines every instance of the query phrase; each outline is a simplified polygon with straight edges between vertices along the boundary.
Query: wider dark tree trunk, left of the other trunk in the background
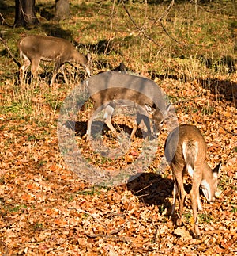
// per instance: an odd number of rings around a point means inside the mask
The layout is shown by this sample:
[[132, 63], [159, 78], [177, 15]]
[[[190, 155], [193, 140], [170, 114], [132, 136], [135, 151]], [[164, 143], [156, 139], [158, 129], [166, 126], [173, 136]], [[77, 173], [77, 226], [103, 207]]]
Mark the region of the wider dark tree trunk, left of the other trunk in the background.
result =
[[14, 26], [26, 27], [28, 25], [39, 25], [36, 17], [35, 0], [15, 0], [16, 13]]

